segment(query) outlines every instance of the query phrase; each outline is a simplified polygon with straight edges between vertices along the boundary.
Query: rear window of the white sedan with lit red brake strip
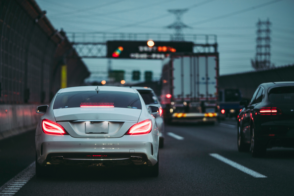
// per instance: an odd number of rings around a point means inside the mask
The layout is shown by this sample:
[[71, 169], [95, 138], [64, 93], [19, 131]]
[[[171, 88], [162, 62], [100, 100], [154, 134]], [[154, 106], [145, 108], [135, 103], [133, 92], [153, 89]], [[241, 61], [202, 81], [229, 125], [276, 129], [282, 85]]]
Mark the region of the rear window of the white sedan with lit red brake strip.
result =
[[87, 107], [142, 109], [138, 94], [119, 91], [73, 91], [59, 93], [53, 105], [53, 109]]

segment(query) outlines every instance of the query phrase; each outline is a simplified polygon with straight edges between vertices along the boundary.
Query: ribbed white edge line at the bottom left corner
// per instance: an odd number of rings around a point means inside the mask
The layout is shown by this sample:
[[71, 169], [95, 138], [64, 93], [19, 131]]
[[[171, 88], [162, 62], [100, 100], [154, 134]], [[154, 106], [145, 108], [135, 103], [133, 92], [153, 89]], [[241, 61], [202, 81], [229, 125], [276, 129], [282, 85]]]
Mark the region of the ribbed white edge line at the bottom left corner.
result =
[[[23, 187], [36, 174], [35, 162], [31, 163], [26, 169], [22, 170], [11, 180], [0, 187], [0, 195], [14, 195], [21, 187]], [[11, 188], [14, 187], [14, 188]]]

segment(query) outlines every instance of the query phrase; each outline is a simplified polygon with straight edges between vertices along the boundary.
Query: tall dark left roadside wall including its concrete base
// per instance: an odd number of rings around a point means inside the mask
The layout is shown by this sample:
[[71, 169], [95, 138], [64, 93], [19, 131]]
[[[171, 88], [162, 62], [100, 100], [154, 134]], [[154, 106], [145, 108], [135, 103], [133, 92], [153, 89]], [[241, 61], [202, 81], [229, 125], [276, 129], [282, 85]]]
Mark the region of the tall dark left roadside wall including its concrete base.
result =
[[[90, 75], [63, 31], [57, 31], [34, 0], [0, 0], [0, 139], [32, 130], [37, 105], [49, 105], [60, 89], [60, 66], [68, 87]], [[76, 56], [76, 55], [75, 55]]]

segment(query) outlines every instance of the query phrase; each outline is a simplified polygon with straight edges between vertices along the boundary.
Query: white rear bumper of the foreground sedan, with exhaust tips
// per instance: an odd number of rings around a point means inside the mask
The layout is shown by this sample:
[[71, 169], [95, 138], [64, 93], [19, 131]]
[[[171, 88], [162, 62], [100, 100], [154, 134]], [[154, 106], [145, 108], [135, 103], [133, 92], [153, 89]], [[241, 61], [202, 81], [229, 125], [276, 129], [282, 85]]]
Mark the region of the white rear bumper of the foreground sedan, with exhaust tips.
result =
[[[134, 163], [131, 156], [138, 156], [145, 164], [155, 165], [158, 142], [159, 136], [152, 133], [124, 135], [121, 138], [73, 138], [70, 135], [55, 136], [41, 133], [36, 136], [37, 161], [40, 165], [126, 165]], [[57, 156], [62, 157], [61, 161], [52, 162], [52, 157]]]

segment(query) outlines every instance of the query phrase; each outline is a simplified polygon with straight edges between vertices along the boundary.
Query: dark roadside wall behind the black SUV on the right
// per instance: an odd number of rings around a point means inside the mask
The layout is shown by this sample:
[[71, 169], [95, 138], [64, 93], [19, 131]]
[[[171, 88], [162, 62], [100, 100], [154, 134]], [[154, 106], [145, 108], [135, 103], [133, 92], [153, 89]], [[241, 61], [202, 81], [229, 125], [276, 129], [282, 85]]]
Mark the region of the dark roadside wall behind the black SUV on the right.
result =
[[239, 89], [244, 99], [251, 99], [261, 83], [294, 81], [294, 64], [263, 71], [231, 74], [219, 77], [220, 89]]

